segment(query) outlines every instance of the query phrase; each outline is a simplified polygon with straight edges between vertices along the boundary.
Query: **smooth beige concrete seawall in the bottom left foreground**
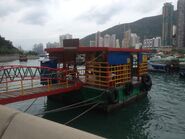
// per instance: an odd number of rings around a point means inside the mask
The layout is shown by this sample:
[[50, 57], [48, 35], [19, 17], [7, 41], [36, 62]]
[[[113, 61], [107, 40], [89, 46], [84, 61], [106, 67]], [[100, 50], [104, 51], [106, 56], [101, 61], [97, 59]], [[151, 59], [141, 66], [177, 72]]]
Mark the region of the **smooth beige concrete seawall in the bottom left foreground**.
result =
[[1, 139], [102, 139], [102, 137], [0, 105]]

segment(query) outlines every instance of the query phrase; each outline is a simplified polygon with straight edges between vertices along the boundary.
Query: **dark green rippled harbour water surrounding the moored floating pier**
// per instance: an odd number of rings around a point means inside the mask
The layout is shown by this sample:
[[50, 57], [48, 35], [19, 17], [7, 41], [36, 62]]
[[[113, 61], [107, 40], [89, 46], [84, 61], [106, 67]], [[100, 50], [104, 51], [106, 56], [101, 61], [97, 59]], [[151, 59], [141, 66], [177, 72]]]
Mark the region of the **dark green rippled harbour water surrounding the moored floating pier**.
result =
[[[13, 61], [2, 64], [20, 64]], [[23, 65], [38, 65], [29, 60]], [[153, 81], [148, 96], [127, 108], [105, 114], [91, 111], [69, 124], [93, 134], [113, 139], [184, 139], [185, 138], [185, 79], [178, 75], [150, 73]], [[28, 100], [9, 104], [9, 107], [25, 111], [33, 102]], [[35, 115], [61, 107], [57, 102], [38, 98], [27, 113]], [[85, 109], [42, 115], [43, 118], [62, 123], [74, 118]]]

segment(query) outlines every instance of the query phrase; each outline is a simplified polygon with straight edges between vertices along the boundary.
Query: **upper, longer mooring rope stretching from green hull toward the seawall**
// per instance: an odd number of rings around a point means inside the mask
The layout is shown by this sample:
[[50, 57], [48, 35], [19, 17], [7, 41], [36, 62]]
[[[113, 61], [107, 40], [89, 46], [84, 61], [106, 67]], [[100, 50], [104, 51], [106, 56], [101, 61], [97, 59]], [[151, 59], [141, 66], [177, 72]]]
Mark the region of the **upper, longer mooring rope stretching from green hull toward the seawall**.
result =
[[[54, 113], [54, 112], [60, 112], [60, 111], [69, 110], [69, 109], [78, 108], [78, 107], [83, 107], [84, 105], [87, 105], [87, 104], [83, 104], [83, 103], [90, 102], [90, 101], [92, 101], [92, 100], [94, 100], [96, 98], [99, 98], [104, 93], [105, 92], [102, 92], [100, 95], [98, 95], [96, 97], [92, 97], [92, 98], [89, 98], [89, 99], [86, 99], [84, 101], [77, 102], [77, 103], [74, 103], [74, 104], [71, 104], [71, 105], [68, 105], [68, 106], [64, 106], [64, 107], [60, 107], [60, 108], [57, 108], [57, 109], [48, 110], [48, 111], [45, 111], [45, 112], [42, 112], [42, 113], [39, 113], [39, 114], [35, 114], [35, 116], [49, 114], [49, 113]], [[83, 104], [83, 105], [80, 105], [80, 104]]]

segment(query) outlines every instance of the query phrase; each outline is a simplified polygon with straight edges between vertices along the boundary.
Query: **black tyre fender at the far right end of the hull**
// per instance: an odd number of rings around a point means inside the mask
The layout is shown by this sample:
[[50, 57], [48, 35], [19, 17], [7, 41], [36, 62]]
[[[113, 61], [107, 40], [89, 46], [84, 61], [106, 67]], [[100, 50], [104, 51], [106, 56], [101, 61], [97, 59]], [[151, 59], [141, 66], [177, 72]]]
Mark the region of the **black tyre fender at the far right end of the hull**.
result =
[[145, 91], [150, 91], [152, 88], [152, 79], [148, 74], [145, 74], [141, 77], [141, 82], [144, 85]]

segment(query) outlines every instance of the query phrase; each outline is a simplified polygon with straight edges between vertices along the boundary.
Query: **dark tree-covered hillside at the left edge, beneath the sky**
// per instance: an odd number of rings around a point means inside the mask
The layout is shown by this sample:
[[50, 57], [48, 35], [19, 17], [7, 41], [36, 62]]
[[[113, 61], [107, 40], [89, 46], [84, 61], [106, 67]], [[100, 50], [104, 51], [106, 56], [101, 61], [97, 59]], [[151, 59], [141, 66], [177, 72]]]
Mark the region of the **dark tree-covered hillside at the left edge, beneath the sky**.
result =
[[12, 42], [0, 36], [0, 54], [16, 53], [19, 53], [19, 50], [12, 45]]

